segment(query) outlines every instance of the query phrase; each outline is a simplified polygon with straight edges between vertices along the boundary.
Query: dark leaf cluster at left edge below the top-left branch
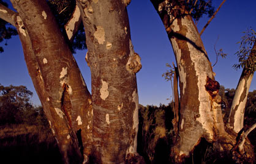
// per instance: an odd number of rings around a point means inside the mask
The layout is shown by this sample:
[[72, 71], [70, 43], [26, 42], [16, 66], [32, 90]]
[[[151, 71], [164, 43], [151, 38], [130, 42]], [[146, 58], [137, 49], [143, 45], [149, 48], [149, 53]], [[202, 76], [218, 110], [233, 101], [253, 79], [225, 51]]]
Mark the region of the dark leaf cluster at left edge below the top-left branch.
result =
[[[2, 0], [0, 0], [0, 4], [8, 7], [8, 4]], [[18, 35], [17, 30], [11, 26], [10, 23], [7, 23], [4, 20], [0, 19], [0, 43], [4, 40], [6, 40], [6, 43], [4, 45], [7, 46], [7, 40], [12, 38], [12, 36]], [[4, 48], [0, 46], [0, 53], [4, 52]]]

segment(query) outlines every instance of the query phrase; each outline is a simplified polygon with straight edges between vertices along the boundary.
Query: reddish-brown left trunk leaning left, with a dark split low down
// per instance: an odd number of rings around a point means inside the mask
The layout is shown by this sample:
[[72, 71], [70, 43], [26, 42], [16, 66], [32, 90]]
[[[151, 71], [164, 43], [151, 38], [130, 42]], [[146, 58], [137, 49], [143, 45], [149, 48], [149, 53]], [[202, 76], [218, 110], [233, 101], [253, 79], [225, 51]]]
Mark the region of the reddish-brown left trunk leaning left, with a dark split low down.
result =
[[[91, 95], [46, 1], [12, 1], [15, 26], [34, 87], [56, 136], [64, 163], [80, 163], [78, 138], [88, 156], [92, 141]], [[77, 131], [81, 130], [81, 136]], [[89, 149], [89, 150], [88, 150]]]

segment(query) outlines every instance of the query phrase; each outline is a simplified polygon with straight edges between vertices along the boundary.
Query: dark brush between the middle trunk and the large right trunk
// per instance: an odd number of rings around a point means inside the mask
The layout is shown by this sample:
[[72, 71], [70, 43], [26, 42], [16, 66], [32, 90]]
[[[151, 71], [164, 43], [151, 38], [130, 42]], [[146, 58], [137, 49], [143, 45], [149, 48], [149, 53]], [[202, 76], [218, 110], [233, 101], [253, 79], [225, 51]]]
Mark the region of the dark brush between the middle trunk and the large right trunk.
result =
[[171, 104], [140, 105], [139, 111], [138, 153], [147, 163], [168, 163], [172, 138]]

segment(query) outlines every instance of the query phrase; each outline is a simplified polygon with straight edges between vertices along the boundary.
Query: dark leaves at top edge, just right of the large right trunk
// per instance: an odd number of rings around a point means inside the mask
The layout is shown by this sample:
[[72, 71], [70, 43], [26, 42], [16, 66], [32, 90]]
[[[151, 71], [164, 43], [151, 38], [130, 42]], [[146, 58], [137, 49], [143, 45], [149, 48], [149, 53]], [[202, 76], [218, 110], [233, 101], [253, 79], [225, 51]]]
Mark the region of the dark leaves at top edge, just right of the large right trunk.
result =
[[197, 23], [203, 15], [211, 17], [214, 13], [214, 7], [212, 1], [208, 0], [189, 0], [185, 2], [190, 15], [194, 18]]

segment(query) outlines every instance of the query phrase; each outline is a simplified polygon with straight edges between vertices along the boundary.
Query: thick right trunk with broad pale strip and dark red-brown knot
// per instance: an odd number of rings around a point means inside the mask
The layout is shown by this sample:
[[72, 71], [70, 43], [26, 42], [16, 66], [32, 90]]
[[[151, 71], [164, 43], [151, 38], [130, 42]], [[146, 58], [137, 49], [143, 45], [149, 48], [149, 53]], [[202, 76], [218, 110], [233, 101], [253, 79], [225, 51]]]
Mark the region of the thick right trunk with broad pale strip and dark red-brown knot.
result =
[[[151, 0], [159, 13], [176, 57], [179, 73], [180, 110], [178, 137], [171, 156], [183, 162], [201, 138], [213, 142], [219, 151], [230, 151], [236, 135], [225, 131], [218, 94], [219, 83], [184, 1]], [[249, 155], [253, 156], [251, 147]]]

